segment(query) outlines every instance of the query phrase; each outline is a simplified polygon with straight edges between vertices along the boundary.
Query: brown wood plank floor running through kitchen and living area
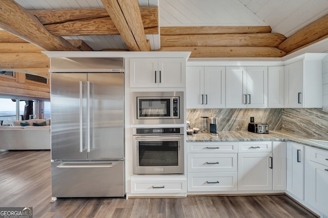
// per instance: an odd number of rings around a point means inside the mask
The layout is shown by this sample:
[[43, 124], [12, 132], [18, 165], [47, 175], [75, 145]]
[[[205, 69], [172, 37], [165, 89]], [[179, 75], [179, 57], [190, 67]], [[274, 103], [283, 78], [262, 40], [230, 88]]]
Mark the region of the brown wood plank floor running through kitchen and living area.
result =
[[315, 217], [287, 196], [51, 200], [50, 151], [0, 151], [0, 207], [33, 217]]

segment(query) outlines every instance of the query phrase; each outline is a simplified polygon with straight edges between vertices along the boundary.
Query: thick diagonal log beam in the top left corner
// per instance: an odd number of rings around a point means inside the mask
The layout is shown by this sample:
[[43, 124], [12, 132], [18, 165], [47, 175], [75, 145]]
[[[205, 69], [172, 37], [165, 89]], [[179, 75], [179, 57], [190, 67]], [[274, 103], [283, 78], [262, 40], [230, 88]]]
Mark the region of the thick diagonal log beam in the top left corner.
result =
[[42, 23], [13, 0], [0, 0], [0, 28], [47, 51], [78, 51], [64, 38], [47, 31]]

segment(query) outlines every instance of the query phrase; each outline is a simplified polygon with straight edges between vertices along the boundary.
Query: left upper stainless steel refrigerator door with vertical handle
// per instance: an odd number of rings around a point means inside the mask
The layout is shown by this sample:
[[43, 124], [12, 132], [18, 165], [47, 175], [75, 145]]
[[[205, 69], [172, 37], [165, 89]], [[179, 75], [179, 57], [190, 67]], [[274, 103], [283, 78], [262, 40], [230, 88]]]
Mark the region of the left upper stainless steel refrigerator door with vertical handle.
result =
[[[51, 159], [86, 160], [87, 74], [51, 74]], [[80, 111], [83, 109], [83, 111]], [[80, 114], [81, 112], [81, 114]], [[82, 128], [80, 129], [80, 125]], [[84, 134], [83, 137], [86, 137]], [[83, 140], [84, 139], [84, 140]]]

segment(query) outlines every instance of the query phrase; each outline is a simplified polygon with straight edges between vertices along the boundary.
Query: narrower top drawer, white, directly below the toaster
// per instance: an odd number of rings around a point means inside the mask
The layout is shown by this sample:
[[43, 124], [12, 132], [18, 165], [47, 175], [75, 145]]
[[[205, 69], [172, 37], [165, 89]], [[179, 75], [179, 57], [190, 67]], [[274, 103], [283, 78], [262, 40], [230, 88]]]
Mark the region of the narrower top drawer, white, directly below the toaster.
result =
[[272, 141], [239, 142], [238, 152], [272, 152]]

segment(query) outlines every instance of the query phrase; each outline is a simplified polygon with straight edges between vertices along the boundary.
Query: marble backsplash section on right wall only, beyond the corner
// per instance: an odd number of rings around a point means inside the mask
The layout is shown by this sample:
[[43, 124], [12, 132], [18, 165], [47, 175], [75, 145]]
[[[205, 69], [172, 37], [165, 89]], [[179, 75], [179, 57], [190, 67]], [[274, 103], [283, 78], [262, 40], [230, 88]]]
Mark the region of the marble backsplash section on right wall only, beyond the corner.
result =
[[284, 108], [282, 130], [328, 138], [328, 111], [320, 108]]

